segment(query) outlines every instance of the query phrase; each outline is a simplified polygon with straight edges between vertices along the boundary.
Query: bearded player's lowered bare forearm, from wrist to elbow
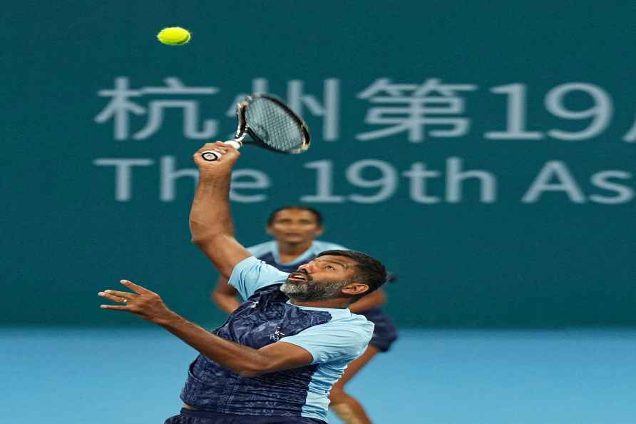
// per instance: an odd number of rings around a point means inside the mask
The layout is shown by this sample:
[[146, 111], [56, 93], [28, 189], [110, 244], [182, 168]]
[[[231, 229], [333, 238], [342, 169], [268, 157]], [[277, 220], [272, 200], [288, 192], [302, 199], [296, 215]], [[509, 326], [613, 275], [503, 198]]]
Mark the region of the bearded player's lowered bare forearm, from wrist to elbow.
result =
[[248, 348], [210, 333], [177, 313], [158, 323], [202, 355], [239, 375], [253, 377], [266, 367], [259, 350]]

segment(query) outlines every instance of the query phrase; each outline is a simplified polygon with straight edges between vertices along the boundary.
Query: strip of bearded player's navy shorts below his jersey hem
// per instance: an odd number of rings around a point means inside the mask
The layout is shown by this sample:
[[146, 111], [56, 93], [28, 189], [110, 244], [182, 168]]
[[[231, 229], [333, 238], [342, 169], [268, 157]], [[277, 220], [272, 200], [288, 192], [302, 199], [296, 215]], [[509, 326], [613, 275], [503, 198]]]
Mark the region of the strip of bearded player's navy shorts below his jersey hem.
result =
[[254, 415], [233, 415], [213, 413], [207, 410], [183, 408], [179, 415], [168, 418], [163, 424], [327, 424], [317, 418], [306, 417], [257, 417]]

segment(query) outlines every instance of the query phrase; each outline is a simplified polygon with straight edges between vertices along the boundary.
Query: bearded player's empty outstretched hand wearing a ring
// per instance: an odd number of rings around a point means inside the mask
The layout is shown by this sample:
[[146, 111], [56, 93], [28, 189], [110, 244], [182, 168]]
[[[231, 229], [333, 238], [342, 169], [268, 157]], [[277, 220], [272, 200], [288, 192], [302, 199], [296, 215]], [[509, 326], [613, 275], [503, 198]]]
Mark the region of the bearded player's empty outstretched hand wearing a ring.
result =
[[170, 311], [168, 306], [165, 306], [165, 303], [163, 303], [157, 293], [138, 286], [132, 281], [121, 280], [120, 283], [130, 288], [134, 293], [110, 289], [101, 291], [97, 293], [98, 296], [106, 298], [109, 301], [123, 303], [123, 305], [101, 305], [100, 308], [134, 313], [140, 318], [160, 325], [168, 322], [170, 318], [175, 316], [175, 313]]

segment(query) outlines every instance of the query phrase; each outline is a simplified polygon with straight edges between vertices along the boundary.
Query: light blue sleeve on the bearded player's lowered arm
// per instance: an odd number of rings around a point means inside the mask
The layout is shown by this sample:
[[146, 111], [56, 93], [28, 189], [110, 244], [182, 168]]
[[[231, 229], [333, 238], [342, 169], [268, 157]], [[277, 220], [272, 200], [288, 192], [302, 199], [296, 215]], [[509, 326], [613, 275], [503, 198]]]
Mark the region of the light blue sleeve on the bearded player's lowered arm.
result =
[[366, 318], [354, 318], [314, 325], [278, 343], [292, 343], [312, 354], [312, 364], [354, 360], [364, 353], [373, 335], [374, 324]]

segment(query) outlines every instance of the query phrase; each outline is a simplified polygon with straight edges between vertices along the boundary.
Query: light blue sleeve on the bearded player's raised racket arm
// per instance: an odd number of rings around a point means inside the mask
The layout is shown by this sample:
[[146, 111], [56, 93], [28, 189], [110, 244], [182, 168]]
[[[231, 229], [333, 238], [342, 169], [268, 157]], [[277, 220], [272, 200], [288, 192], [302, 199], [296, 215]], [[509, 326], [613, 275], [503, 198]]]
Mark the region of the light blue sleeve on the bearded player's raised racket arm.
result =
[[288, 275], [254, 256], [250, 256], [236, 264], [227, 283], [235, 287], [245, 300], [259, 288], [284, 283]]

